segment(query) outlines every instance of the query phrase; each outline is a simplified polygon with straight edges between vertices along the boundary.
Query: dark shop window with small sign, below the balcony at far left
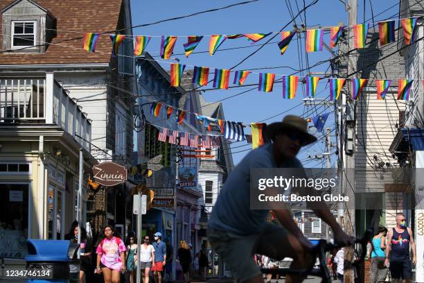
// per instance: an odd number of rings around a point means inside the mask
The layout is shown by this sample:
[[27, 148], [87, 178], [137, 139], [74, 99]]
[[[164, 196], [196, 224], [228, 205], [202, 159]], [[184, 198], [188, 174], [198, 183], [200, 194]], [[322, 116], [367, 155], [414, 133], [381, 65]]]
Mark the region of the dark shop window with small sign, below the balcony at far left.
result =
[[0, 183], [0, 257], [26, 256], [29, 188], [28, 184]]

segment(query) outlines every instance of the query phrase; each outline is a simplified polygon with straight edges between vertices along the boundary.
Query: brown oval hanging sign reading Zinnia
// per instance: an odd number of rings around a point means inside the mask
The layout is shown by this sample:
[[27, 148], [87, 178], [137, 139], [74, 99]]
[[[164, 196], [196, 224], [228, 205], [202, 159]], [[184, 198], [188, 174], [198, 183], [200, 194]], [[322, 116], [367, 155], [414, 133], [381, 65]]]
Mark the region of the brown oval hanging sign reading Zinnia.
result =
[[127, 170], [124, 166], [114, 162], [103, 162], [91, 169], [93, 172], [94, 182], [100, 185], [111, 187], [121, 184], [127, 180]]

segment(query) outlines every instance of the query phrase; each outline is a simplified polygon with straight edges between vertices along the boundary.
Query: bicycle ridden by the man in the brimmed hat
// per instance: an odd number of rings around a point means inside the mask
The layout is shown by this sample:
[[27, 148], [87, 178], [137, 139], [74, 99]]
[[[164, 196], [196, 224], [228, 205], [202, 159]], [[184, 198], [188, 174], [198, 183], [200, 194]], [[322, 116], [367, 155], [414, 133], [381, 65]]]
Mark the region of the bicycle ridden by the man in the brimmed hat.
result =
[[[360, 252], [358, 253], [357, 259], [353, 262], [352, 266], [357, 267], [359, 266], [362, 261], [364, 261], [366, 256], [366, 244], [371, 241], [371, 238], [373, 237], [373, 230], [368, 229], [366, 230], [364, 237], [362, 239], [356, 239], [355, 244], [359, 244]], [[314, 248], [312, 248], [311, 253], [314, 255], [314, 259], [319, 260], [319, 268], [315, 268], [314, 265], [310, 266], [310, 268], [303, 268], [303, 269], [295, 269], [295, 268], [261, 268], [260, 270], [265, 273], [269, 274], [272, 273], [272, 275], [275, 275], [278, 273], [280, 276], [285, 276], [288, 274], [292, 275], [312, 275], [312, 276], [319, 276], [322, 278], [321, 283], [331, 283], [333, 282], [333, 275], [330, 275], [330, 272], [328, 271], [327, 267], [327, 261], [326, 261], [326, 252], [329, 252], [333, 249], [343, 248], [341, 245], [333, 244], [333, 243], [327, 243], [325, 239], [321, 240], [311, 240], [311, 243], [314, 244]], [[316, 261], [316, 260], [315, 260]], [[313, 261], [315, 263], [315, 261]]]

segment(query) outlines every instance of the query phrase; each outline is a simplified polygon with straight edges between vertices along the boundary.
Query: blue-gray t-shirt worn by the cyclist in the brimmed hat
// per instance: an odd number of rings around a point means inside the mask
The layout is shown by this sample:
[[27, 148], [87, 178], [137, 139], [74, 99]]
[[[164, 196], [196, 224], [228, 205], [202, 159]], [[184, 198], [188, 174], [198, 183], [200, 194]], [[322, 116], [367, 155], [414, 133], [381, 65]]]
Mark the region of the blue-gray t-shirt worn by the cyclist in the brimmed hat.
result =
[[[250, 209], [250, 169], [276, 168], [272, 144], [256, 148], [231, 172], [213, 206], [209, 228], [234, 234], [255, 234], [266, 224], [268, 210]], [[280, 168], [303, 168], [294, 158]]]

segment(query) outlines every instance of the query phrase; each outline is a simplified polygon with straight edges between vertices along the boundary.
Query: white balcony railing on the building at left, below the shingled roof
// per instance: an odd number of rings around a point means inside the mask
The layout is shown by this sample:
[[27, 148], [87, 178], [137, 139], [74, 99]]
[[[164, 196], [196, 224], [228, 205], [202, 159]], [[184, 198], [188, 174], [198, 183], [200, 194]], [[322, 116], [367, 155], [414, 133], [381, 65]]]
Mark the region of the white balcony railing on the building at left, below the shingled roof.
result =
[[90, 151], [91, 120], [55, 79], [0, 78], [1, 123], [55, 124]]

